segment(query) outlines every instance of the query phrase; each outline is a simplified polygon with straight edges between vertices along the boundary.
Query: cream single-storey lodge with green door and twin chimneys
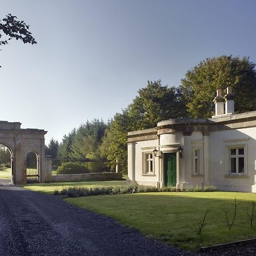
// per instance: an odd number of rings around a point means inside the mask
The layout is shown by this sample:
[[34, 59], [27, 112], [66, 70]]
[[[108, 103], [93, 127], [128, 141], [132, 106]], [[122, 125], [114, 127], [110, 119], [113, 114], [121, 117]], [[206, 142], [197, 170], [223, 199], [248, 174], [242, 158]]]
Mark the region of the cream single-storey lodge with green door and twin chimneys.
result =
[[127, 134], [128, 177], [141, 185], [256, 192], [256, 111], [234, 113], [232, 88], [217, 90], [209, 119], [162, 121]]

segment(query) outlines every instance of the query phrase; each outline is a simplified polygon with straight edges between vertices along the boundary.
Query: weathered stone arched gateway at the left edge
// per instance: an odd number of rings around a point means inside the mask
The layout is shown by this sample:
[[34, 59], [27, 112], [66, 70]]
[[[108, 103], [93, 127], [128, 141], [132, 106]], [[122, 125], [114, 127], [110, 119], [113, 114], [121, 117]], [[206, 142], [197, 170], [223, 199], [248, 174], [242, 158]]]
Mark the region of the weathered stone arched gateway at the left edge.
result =
[[21, 129], [19, 122], [0, 121], [0, 143], [11, 155], [11, 183], [44, 183], [48, 179], [44, 155], [44, 135], [47, 131]]

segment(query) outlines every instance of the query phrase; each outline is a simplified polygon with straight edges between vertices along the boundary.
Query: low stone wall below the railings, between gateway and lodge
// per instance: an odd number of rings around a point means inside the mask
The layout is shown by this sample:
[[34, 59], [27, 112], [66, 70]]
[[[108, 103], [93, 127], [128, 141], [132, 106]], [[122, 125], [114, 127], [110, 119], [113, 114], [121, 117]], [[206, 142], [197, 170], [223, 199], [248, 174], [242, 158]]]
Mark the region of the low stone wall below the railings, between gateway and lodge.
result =
[[104, 181], [122, 180], [122, 174], [116, 172], [98, 172], [94, 174], [63, 174], [52, 175], [49, 182], [69, 182], [69, 181]]

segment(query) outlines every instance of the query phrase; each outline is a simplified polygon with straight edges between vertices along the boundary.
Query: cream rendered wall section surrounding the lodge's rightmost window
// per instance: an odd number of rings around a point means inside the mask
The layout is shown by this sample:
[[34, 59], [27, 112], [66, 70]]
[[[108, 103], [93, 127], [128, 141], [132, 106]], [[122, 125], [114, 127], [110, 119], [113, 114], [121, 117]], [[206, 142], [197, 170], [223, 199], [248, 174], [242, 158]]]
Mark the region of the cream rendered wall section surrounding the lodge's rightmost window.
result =
[[[245, 175], [229, 174], [229, 146], [245, 146]], [[256, 127], [212, 131], [209, 155], [209, 181], [219, 190], [256, 192]]]

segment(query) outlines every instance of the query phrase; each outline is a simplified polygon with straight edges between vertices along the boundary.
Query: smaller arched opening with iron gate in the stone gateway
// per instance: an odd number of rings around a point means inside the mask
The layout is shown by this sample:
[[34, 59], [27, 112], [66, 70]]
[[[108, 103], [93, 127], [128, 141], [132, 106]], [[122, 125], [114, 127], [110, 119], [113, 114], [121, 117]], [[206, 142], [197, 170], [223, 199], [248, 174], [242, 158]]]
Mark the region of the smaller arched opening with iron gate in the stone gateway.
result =
[[26, 182], [39, 183], [39, 156], [35, 152], [30, 152], [27, 154]]

